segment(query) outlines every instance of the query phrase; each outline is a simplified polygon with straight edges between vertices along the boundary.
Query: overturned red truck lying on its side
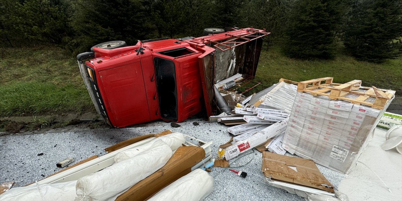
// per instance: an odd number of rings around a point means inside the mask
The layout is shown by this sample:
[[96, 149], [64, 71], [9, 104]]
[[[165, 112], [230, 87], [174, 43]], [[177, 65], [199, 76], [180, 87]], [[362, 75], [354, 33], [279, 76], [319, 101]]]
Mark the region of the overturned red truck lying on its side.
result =
[[237, 73], [254, 77], [262, 37], [269, 34], [254, 28], [216, 32], [133, 46], [111, 41], [78, 54], [96, 111], [113, 127], [181, 122], [203, 108], [213, 115], [220, 108], [214, 84]]

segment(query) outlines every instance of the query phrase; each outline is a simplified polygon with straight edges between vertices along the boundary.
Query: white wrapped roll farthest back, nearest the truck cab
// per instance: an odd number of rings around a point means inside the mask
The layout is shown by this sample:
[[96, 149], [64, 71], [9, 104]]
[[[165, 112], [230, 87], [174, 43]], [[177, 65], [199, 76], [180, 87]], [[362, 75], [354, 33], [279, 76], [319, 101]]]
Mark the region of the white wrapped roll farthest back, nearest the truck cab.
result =
[[168, 146], [170, 146], [170, 149], [172, 151], [174, 151], [179, 146], [181, 146], [181, 144], [185, 143], [185, 141], [186, 141], [185, 135], [183, 135], [182, 133], [174, 132], [174, 133], [170, 133], [168, 135], [160, 136], [160, 137], [157, 137], [156, 139], [152, 140], [151, 142], [143, 144], [142, 146], [138, 146], [138, 147], [117, 153], [115, 156], [115, 162], [121, 162], [123, 160], [126, 160], [127, 158], [132, 158], [134, 156], [137, 156], [141, 152], [161, 146], [162, 144], [165, 144], [165, 143], [168, 144]]

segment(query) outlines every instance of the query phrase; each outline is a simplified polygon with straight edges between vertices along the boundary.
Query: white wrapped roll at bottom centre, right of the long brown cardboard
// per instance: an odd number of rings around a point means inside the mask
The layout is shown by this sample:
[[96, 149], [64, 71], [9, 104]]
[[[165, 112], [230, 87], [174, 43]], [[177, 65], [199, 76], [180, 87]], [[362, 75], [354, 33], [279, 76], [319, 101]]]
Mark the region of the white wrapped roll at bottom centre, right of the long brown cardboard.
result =
[[213, 178], [196, 169], [160, 190], [148, 201], [201, 201], [213, 190]]

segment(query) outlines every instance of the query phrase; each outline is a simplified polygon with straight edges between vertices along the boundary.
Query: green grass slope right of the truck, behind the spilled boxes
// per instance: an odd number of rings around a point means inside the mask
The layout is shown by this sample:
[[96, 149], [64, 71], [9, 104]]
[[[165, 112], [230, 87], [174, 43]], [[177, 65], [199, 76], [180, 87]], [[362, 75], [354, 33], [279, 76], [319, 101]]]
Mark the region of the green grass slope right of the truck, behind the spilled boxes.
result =
[[[334, 60], [298, 60], [284, 56], [278, 47], [262, 51], [254, 81], [261, 82], [251, 92], [258, 92], [280, 78], [296, 82], [333, 77], [335, 83], [362, 80], [362, 86], [396, 90], [402, 95], [402, 58], [382, 64], [357, 61], [339, 50]], [[249, 93], [250, 94], [250, 93]]]

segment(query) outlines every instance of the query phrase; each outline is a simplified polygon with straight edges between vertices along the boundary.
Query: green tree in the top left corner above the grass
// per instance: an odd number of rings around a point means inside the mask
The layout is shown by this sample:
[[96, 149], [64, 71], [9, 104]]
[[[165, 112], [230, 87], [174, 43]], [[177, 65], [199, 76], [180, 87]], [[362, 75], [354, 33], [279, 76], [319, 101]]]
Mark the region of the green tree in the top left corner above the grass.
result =
[[61, 43], [68, 36], [68, 2], [63, 0], [4, 0], [0, 33], [10, 44], [45, 41]]

